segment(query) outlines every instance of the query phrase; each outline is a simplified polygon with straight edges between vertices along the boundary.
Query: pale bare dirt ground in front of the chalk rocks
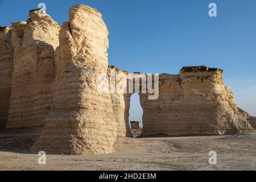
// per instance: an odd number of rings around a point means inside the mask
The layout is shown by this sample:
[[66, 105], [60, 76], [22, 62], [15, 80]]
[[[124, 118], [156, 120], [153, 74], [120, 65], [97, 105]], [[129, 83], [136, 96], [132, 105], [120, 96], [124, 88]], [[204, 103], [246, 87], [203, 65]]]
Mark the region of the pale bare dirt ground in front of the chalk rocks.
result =
[[[0, 170], [256, 170], [256, 134], [215, 137], [119, 137], [113, 154], [38, 155], [7, 150], [1, 145]], [[3, 140], [2, 140], [3, 141]], [[209, 165], [209, 151], [217, 165]]]

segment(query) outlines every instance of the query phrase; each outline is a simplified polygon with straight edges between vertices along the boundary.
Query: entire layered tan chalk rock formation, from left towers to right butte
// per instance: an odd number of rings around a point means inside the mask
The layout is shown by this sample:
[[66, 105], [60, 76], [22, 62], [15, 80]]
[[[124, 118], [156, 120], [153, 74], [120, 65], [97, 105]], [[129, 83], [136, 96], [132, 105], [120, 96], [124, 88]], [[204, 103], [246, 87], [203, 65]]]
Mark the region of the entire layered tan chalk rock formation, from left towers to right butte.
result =
[[[0, 27], [0, 131], [24, 139], [29, 152], [105, 154], [117, 136], [132, 137], [131, 93], [99, 93], [109, 74], [108, 29], [96, 9], [75, 5], [60, 27], [49, 15]], [[159, 97], [140, 93], [141, 137], [252, 133], [256, 119], [237, 107], [223, 71], [183, 67], [159, 75]], [[137, 73], [140, 74], [140, 73]], [[116, 80], [118, 82], [118, 80]], [[128, 82], [128, 80], [127, 80]]]

